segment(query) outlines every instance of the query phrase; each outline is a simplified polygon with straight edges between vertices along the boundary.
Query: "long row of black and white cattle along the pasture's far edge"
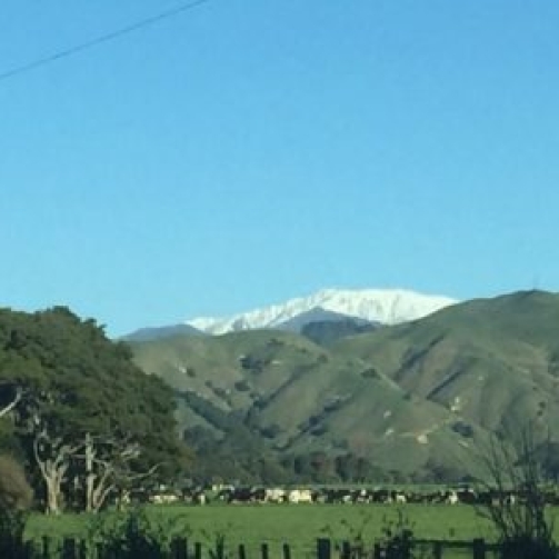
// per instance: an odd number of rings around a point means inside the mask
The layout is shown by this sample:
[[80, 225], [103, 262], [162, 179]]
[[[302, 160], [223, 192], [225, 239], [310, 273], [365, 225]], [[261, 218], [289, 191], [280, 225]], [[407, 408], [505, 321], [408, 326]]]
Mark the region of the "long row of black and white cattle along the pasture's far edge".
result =
[[[212, 486], [196, 487], [182, 491], [159, 488], [147, 500], [153, 503], [184, 502], [191, 505], [222, 503], [426, 503], [426, 505], [488, 505], [502, 502], [513, 505], [533, 496], [522, 491], [495, 491], [471, 487], [440, 488], [435, 490], [388, 488], [264, 488]], [[548, 505], [559, 505], [559, 495], [549, 490], [540, 493]]]

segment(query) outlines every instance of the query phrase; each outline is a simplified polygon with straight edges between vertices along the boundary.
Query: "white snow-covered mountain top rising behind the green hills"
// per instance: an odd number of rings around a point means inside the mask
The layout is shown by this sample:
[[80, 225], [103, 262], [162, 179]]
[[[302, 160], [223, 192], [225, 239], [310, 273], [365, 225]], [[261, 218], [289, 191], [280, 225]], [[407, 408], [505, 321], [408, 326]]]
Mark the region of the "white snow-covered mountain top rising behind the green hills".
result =
[[323, 289], [309, 297], [242, 312], [232, 317], [201, 317], [188, 320], [207, 333], [226, 333], [259, 328], [281, 328], [297, 316], [316, 309], [356, 317], [371, 322], [396, 325], [422, 318], [458, 301], [403, 289]]

